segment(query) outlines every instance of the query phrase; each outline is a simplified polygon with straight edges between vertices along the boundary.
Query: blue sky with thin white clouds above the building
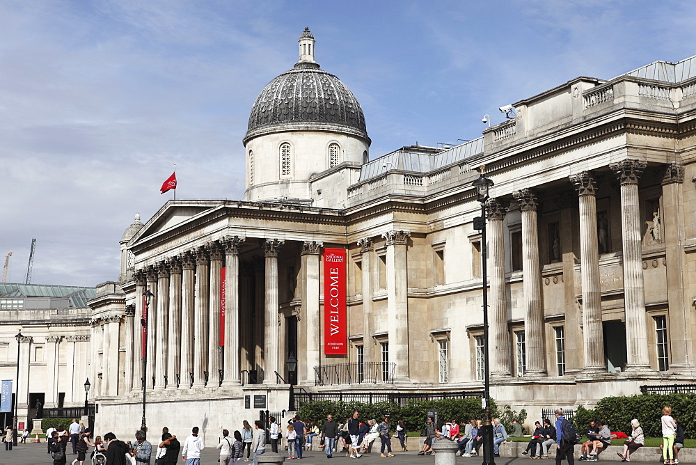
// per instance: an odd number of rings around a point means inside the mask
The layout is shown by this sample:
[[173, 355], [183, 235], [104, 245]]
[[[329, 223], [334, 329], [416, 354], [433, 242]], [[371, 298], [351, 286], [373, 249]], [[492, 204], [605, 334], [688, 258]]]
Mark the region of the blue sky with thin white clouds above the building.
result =
[[0, 0], [0, 260], [23, 283], [95, 286], [171, 198], [244, 198], [262, 88], [297, 61], [353, 91], [374, 159], [481, 135], [498, 107], [578, 76], [696, 54], [687, 1]]

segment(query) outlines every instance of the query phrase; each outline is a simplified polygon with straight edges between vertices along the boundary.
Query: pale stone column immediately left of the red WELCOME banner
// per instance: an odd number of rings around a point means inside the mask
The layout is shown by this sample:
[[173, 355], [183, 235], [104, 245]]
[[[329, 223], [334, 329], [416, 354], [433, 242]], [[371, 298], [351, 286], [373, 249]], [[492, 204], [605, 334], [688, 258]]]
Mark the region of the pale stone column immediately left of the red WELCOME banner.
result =
[[[314, 368], [319, 366], [321, 354], [319, 337], [319, 268], [322, 261], [324, 244], [316, 241], [305, 241], [302, 244], [303, 296], [302, 306], [305, 318], [307, 350], [303, 363], [298, 363], [299, 383], [313, 384], [315, 381]], [[299, 354], [294, 354], [296, 357]]]

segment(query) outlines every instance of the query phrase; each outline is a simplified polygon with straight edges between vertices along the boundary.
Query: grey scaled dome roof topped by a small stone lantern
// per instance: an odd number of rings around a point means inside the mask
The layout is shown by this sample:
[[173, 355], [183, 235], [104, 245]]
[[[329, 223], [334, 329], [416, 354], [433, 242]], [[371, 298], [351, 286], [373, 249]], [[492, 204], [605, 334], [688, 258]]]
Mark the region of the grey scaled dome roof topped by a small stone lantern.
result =
[[[314, 42], [306, 29], [300, 38]], [[244, 143], [283, 131], [327, 131], [366, 139], [365, 116], [355, 95], [338, 77], [319, 69], [313, 47], [290, 71], [280, 74], [256, 98]]]

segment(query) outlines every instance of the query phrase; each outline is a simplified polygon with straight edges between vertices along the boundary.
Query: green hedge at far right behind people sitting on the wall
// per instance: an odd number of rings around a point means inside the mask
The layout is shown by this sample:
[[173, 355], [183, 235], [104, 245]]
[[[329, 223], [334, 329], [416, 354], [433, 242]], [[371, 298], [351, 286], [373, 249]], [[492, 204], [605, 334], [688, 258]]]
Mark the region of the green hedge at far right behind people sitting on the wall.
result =
[[590, 420], [601, 420], [612, 431], [631, 434], [631, 420], [638, 418], [645, 436], [662, 436], [662, 407], [670, 405], [672, 416], [684, 429], [686, 437], [696, 437], [696, 394], [647, 394], [604, 397], [594, 410], [578, 407], [574, 423], [578, 432], [587, 429]]

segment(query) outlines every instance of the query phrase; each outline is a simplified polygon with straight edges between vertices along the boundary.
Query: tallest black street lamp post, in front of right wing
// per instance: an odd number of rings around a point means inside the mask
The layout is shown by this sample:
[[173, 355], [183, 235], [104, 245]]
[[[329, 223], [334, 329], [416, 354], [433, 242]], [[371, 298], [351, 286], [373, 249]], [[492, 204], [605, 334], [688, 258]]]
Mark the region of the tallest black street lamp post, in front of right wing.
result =
[[481, 203], [481, 216], [474, 219], [474, 229], [481, 231], [481, 261], [483, 277], [483, 339], [484, 339], [484, 419], [483, 419], [483, 465], [495, 465], [493, 454], [493, 422], [491, 418], [491, 378], [489, 369], [489, 339], [488, 339], [488, 268], [486, 246], [486, 200], [489, 199], [489, 189], [493, 181], [484, 176], [484, 167], [481, 166], [481, 175], [474, 180], [473, 187], [478, 191], [477, 200]]

